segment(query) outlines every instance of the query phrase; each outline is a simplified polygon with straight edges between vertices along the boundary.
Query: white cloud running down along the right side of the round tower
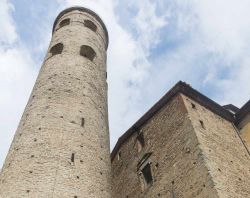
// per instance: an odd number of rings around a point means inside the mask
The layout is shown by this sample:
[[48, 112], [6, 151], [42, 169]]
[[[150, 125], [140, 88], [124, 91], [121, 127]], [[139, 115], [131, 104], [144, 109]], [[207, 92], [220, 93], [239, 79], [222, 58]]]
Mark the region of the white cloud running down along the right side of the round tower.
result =
[[147, 56], [151, 47], [159, 42], [157, 31], [166, 24], [166, 21], [164, 17], [156, 15], [154, 3], [150, 1], [132, 3], [131, 5], [138, 9], [134, 27], [142, 35], [134, 38], [133, 34], [119, 23], [115, 12], [116, 6], [121, 2], [111, 0], [59, 2], [65, 7], [81, 5], [93, 9], [108, 28], [109, 120], [111, 147], [113, 147], [117, 138], [142, 114], [138, 102], [140, 88], [150, 68]]

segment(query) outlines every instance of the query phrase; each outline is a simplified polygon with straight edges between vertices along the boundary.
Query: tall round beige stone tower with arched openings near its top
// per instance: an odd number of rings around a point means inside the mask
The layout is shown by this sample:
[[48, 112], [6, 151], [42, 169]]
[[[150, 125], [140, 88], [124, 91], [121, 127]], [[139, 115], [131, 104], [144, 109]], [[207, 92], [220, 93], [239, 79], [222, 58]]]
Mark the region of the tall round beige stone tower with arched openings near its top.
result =
[[111, 197], [107, 46], [93, 11], [59, 14], [0, 175], [0, 197]]

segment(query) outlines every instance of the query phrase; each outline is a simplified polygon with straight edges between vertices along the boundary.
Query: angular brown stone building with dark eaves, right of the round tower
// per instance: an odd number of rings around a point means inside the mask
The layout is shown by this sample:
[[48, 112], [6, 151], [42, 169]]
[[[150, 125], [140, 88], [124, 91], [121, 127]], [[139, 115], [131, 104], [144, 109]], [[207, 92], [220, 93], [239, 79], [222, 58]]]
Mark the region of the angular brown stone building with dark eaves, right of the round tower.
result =
[[179, 82], [118, 140], [112, 197], [250, 197], [249, 114]]

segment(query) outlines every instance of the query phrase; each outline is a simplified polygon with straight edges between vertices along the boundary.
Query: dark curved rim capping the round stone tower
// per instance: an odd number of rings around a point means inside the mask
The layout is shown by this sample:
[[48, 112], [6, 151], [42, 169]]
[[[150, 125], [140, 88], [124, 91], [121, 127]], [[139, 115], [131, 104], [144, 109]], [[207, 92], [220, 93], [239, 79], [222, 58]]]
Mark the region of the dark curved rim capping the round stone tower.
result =
[[52, 33], [54, 33], [55, 31], [55, 27], [56, 27], [56, 24], [58, 22], [58, 20], [63, 16], [65, 15], [66, 13], [68, 12], [71, 12], [71, 11], [74, 11], [74, 10], [79, 10], [81, 12], [87, 12], [88, 14], [92, 15], [93, 17], [96, 18], [96, 20], [98, 20], [104, 30], [104, 33], [105, 33], [105, 36], [106, 36], [106, 39], [107, 39], [107, 46], [106, 46], [106, 49], [108, 48], [108, 43], [109, 43], [109, 35], [108, 35], [108, 30], [103, 22], [103, 20], [101, 19], [101, 17], [99, 17], [98, 14], [96, 14], [94, 11], [88, 9], [88, 8], [85, 8], [85, 7], [80, 7], [80, 6], [74, 6], [74, 7], [70, 7], [70, 8], [67, 8], [63, 11], [61, 11], [58, 16], [56, 17], [56, 20], [54, 22], [54, 25], [53, 25], [53, 31]]

